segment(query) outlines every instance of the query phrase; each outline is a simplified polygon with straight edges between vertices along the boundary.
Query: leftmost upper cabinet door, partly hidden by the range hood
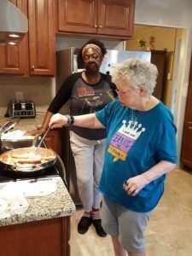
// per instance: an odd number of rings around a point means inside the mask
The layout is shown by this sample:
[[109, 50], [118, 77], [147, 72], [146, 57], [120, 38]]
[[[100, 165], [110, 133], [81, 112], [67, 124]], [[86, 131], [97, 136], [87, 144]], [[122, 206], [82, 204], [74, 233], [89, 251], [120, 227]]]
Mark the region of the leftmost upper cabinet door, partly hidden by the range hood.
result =
[[[27, 0], [11, 0], [27, 16]], [[28, 35], [19, 44], [0, 45], [0, 73], [28, 74]]]

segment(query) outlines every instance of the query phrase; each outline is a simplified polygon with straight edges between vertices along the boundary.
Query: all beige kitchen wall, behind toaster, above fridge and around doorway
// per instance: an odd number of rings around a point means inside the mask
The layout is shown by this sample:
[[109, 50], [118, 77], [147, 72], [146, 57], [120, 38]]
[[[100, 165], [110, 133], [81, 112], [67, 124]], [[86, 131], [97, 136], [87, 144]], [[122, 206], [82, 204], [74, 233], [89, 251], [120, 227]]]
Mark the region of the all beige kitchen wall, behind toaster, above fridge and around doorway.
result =
[[[178, 151], [180, 152], [183, 133], [183, 113], [189, 79], [189, 61], [192, 47], [192, 1], [191, 0], [136, 0], [135, 23], [152, 26], [185, 28], [181, 45], [179, 63], [180, 84], [176, 97], [176, 125]], [[56, 49], [69, 46], [81, 46], [88, 38], [57, 38]], [[104, 41], [108, 49], [125, 49], [124, 42]], [[30, 97], [37, 105], [49, 105], [55, 93], [55, 79], [50, 78], [10, 78], [0, 76], [0, 115], [16, 91], [23, 91], [24, 97]], [[4, 110], [3, 110], [4, 111]]]

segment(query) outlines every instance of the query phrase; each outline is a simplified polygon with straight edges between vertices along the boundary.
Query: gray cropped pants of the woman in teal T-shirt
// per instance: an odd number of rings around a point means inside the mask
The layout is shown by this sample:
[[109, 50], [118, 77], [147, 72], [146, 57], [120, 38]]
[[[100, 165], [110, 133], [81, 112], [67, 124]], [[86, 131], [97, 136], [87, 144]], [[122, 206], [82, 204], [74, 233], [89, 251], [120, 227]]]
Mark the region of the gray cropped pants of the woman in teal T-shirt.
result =
[[144, 231], [151, 212], [133, 212], [121, 207], [103, 195], [102, 227], [111, 236], [119, 236], [119, 241], [128, 253], [145, 251]]

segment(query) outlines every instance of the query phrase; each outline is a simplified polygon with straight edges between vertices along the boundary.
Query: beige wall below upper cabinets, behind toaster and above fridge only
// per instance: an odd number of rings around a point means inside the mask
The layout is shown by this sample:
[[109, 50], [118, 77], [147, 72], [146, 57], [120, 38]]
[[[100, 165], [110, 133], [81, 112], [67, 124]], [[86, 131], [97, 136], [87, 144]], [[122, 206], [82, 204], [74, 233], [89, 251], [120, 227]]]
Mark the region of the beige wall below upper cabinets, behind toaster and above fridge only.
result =
[[[56, 49], [67, 49], [72, 46], [81, 47], [90, 38], [56, 38]], [[117, 40], [102, 40], [107, 49], [124, 49], [124, 42]], [[49, 77], [16, 77], [0, 76], [0, 116], [6, 111], [11, 100], [16, 99], [17, 92], [23, 92], [25, 100], [32, 100], [37, 109], [44, 109], [55, 96], [55, 78]]]

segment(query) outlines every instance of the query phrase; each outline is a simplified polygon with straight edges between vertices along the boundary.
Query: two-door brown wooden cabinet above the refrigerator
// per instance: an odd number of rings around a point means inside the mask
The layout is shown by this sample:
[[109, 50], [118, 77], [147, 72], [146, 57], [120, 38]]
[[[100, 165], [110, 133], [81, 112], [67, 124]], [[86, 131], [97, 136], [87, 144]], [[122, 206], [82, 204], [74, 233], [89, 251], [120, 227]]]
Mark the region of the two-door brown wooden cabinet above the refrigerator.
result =
[[135, 0], [58, 0], [61, 33], [131, 38]]

